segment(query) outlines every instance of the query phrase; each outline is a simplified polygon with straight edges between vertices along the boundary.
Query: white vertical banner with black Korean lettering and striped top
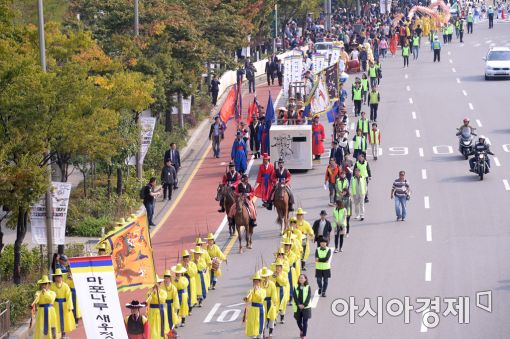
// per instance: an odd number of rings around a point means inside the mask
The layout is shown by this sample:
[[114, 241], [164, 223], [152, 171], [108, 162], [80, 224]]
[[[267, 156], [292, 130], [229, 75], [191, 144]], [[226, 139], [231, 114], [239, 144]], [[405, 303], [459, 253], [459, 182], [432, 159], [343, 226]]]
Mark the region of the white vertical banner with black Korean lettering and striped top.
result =
[[87, 338], [127, 339], [110, 256], [70, 258]]

